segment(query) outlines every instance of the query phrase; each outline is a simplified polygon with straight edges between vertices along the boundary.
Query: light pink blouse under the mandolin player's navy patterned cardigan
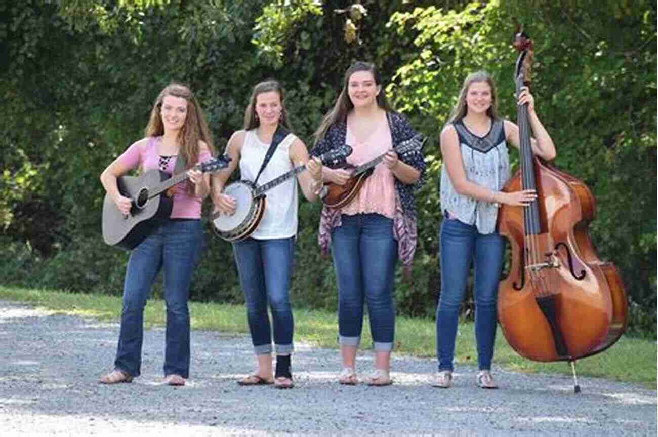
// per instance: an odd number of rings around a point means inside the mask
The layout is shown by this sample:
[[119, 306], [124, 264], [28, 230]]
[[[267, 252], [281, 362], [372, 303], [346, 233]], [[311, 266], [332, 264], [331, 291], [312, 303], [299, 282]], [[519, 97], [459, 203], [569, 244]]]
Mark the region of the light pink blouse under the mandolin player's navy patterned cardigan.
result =
[[[357, 141], [348, 126], [345, 142], [353, 149], [347, 163], [354, 166], [365, 164], [393, 147], [386, 119], [364, 141]], [[395, 176], [383, 161], [374, 167], [374, 172], [365, 180], [359, 193], [342, 208], [341, 213], [377, 213], [389, 219], [395, 218]]]

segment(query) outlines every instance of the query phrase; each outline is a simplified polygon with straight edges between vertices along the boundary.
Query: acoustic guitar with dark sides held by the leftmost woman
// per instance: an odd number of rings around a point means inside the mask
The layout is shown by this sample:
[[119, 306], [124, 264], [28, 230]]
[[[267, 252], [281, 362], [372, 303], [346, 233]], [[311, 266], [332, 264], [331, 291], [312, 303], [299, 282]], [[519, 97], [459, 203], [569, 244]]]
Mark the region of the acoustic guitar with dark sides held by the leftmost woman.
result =
[[[195, 170], [215, 172], [228, 166], [231, 159], [226, 156], [209, 159], [195, 165]], [[153, 169], [140, 176], [120, 176], [116, 179], [121, 195], [132, 200], [130, 213], [124, 216], [116, 203], [105, 194], [103, 201], [103, 240], [105, 243], [132, 250], [146, 238], [157, 225], [158, 220], [168, 219], [174, 199], [170, 188], [188, 179], [188, 172], [169, 176]]]

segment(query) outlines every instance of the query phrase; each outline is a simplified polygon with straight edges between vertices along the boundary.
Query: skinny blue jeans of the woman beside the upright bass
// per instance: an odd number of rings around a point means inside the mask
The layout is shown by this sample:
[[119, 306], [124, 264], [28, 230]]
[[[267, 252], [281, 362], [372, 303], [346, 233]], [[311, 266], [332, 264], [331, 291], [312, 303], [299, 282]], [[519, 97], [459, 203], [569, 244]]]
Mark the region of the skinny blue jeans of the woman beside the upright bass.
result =
[[464, 300], [468, 270], [474, 267], [475, 340], [478, 367], [490, 370], [496, 331], [496, 298], [503, 267], [503, 237], [480, 234], [457, 219], [443, 220], [440, 232], [441, 294], [436, 309], [436, 355], [439, 371], [453, 370], [459, 307]]

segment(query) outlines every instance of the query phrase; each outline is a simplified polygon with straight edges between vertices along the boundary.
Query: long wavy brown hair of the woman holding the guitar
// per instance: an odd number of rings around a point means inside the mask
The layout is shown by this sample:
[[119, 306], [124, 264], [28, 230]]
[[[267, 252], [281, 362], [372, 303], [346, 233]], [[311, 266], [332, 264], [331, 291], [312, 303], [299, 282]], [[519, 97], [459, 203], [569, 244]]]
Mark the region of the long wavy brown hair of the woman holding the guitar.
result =
[[[197, 98], [190, 88], [176, 82], [172, 82], [164, 87], [164, 90], [160, 91], [157, 99], [155, 99], [153, 109], [151, 109], [149, 124], [147, 124], [144, 133], [147, 137], [164, 135], [161, 111], [164, 97], [168, 95], [180, 97], [188, 101], [188, 112], [185, 122], [178, 132], [178, 142], [180, 143], [178, 153], [182, 153], [186, 162], [186, 168], [192, 168], [199, 160], [199, 140], [208, 145], [208, 149], [213, 156], [215, 155], [215, 148], [213, 147], [213, 137], [203, 117], [203, 111], [201, 111], [201, 105], [199, 105]], [[188, 188], [191, 188], [193, 191], [192, 184], [189, 185]]]

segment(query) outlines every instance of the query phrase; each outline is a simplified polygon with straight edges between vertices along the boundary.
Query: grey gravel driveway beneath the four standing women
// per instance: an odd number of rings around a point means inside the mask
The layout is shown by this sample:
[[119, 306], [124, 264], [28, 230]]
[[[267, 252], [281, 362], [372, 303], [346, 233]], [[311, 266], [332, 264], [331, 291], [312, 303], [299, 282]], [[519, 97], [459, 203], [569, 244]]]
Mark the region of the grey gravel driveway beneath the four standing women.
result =
[[[102, 386], [118, 324], [49, 315], [0, 301], [0, 436], [655, 436], [657, 395], [633, 384], [494, 369], [499, 390], [432, 388], [436, 362], [394, 356], [394, 384], [340, 386], [335, 350], [296, 344], [293, 390], [243, 388], [253, 371], [245, 336], [192, 332], [191, 379], [163, 386], [164, 330], [145, 333], [142, 376]], [[357, 371], [370, 370], [369, 352]]]

